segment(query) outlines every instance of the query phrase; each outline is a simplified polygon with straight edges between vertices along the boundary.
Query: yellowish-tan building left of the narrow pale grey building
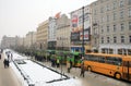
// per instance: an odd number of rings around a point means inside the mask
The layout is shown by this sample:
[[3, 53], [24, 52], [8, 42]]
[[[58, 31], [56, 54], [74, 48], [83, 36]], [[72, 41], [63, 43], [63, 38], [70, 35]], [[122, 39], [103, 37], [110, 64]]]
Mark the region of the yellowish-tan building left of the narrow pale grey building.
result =
[[48, 21], [44, 21], [37, 27], [36, 35], [37, 49], [46, 50], [48, 46], [47, 39], [48, 39]]

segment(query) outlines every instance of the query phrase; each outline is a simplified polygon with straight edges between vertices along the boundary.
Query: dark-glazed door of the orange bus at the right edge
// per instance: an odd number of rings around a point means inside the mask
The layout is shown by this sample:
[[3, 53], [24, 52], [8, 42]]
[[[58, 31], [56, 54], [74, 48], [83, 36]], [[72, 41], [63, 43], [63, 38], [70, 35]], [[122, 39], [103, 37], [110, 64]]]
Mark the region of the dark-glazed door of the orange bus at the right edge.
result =
[[131, 81], [131, 61], [123, 61], [123, 75], [122, 78]]

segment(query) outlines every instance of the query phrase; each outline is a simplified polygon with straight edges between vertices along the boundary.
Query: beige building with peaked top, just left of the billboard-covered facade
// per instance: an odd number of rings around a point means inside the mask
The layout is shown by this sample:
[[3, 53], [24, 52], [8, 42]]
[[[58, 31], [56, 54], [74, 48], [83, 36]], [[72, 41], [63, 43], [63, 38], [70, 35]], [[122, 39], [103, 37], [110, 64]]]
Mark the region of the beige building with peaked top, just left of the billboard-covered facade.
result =
[[58, 50], [70, 50], [70, 19], [62, 14], [57, 19], [57, 49]]

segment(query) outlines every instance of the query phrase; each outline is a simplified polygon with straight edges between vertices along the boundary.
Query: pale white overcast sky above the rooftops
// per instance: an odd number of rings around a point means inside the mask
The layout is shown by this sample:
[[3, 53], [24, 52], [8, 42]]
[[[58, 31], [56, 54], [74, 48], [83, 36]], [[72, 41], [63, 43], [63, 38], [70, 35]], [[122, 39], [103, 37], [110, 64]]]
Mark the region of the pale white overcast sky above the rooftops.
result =
[[0, 0], [0, 40], [3, 35], [23, 37], [49, 16], [69, 14], [93, 1], [96, 0]]

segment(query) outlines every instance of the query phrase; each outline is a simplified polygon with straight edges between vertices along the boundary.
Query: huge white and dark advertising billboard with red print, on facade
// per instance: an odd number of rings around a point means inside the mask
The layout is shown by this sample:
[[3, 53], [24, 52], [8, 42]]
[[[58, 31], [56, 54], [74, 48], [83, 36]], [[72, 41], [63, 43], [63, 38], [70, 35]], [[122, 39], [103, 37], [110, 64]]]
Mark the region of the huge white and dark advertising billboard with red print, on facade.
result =
[[[84, 17], [83, 17], [84, 10]], [[83, 19], [84, 19], [84, 40], [90, 41], [90, 8], [79, 9], [71, 12], [71, 41], [81, 42], [83, 40]]]

